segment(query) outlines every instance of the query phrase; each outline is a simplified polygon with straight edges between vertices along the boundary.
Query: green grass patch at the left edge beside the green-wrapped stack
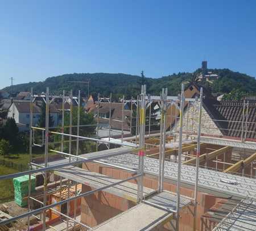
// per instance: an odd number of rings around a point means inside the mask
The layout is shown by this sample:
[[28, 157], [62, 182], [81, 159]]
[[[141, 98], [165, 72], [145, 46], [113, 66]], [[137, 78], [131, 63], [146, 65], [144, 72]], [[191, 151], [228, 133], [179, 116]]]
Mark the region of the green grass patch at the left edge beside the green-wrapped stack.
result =
[[[16, 173], [17, 170], [0, 165], [0, 175]], [[0, 180], [0, 203], [14, 200], [13, 179]]]

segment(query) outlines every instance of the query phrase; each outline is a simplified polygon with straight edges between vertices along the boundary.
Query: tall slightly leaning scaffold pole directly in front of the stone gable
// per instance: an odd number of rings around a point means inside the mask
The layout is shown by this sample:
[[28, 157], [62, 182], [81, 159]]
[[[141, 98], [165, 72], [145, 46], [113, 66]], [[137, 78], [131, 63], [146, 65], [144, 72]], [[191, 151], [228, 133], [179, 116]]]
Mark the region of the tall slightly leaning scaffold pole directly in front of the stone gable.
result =
[[[193, 230], [196, 230], [196, 215], [197, 215], [197, 194], [198, 194], [198, 179], [199, 179], [199, 164], [200, 164], [200, 139], [201, 139], [201, 119], [202, 119], [202, 106], [203, 106], [203, 87], [200, 89], [200, 104], [199, 104], [199, 125], [197, 132], [197, 148], [196, 148], [196, 182], [195, 182], [195, 197], [194, 197], [194, 219]], [[216, 162], [217, 163], [217, 162]]]

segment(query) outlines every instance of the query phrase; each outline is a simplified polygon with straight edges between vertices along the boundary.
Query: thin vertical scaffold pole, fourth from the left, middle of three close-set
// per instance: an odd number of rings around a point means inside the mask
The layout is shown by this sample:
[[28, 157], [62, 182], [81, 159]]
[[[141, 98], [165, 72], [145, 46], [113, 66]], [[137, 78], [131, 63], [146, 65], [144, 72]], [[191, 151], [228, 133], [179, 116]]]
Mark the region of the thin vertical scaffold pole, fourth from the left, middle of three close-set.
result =
[[[72, 135], [72, 121], [73, 121], [73, 91], [70, 91], [70, 110], [69, 110], [69, 135]], [[68, 141], [68, 153], [72, 154], [72, 137], [69, 136], [69, 141]], [[68, 161], [71, 162], [71, 156], [68, 157]], [[68, 180], [68, 196], [69, 198], [70, 194], [70, 180]], [[67, 215], [69, 216], [69, 202], [67, 203]], [[69, 229], [68, 227], [69, 219], [67, 217], [67, 231]]]

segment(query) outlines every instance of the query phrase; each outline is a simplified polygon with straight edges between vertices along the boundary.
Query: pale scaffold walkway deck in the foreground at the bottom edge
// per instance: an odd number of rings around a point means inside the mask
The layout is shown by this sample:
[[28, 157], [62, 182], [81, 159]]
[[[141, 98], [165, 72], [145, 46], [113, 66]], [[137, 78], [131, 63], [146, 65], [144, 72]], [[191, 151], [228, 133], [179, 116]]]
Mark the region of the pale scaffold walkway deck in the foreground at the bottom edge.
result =
[[[160, 192], [91, 230], [146, 231], [154, 229], [156, 226], [164, 225], [174, 218], [176, 200], [176, 194], [166, 191]], [[191, 199], [184, 196], [180, 197], [180, 209], [187, 207], [189, 204], [191, 204]]]

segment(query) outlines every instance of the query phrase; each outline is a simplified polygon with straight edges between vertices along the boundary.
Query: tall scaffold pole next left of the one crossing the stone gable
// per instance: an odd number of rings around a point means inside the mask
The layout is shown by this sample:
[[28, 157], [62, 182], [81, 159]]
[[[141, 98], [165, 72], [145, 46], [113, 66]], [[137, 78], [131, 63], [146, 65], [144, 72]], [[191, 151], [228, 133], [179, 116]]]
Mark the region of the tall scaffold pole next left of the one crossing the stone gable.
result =
[[181, 95], [180, 95], [180, 131], [179, 131], [179, 154], [178, 154], [178, 173], [177, 173], [176, 230], [179, 230], [179, 219], [180, 219], [180, 181], [181, 181], [183, 110], [184, 110], [184, 84], [181, 85]]

